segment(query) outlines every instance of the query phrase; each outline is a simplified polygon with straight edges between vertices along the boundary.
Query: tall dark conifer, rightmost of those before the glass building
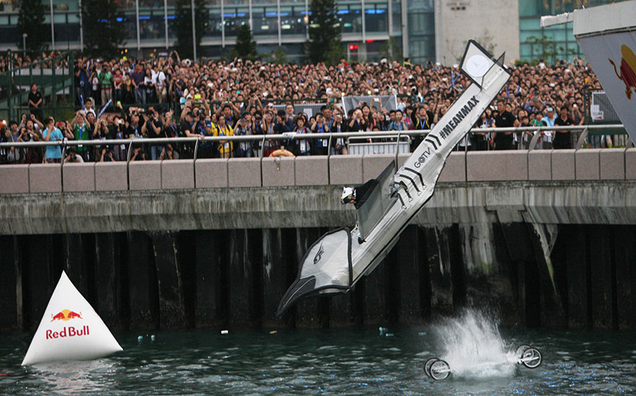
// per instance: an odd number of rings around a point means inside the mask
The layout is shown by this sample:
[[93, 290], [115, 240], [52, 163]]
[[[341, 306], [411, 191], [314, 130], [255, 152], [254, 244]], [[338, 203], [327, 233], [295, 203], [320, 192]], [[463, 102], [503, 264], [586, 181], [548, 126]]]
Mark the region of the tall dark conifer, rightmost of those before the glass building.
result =
[[338, 20], [335, 0], [312, 0], [309, 40], [305, 42], [305, 54], [311, 63], [337, 64], [343, 57], [340, 35], [342, 26]]

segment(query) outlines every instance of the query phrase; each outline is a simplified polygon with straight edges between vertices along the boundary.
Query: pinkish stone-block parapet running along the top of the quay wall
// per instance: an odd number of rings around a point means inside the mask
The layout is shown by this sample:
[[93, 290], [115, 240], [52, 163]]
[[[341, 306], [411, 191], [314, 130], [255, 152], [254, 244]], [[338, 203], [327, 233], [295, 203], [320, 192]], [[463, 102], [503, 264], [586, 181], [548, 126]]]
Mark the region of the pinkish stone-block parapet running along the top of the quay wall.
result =
[[[403, 164], [408, 154], [400, 154]], [[2, 165], [0, 195], [112, 190], [355, 185], [395, 156], [230, 158], [126, 163]], [[636, 180], [636, 148], [454, 151], [440, 182]]]

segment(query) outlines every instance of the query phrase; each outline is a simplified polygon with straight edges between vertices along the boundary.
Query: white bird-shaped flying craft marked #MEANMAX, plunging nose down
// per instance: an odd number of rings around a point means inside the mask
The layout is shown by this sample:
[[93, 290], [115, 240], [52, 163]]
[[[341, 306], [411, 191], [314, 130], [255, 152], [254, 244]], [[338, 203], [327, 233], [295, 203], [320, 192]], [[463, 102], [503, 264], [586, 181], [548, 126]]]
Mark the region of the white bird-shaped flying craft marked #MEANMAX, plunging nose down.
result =
[[[379, 177], [374, 188], [380, 190], [372, 190], [370, 194], [375, 203], [371, 203], [369, 209], [364, 205], [358, 209], [358, 219], [364, 224], [351, 231], [341, 228], [327, 233], [312, 245], [300, 260], [298, 279], [283, 296], [276, 315], [283, 315], [304, 296], [350, 290], [361, 276], [369, 274], [384, 259], [401, 231], [432, 197], [453, 147], [510, 78], [502, 62], [473, 40], [466, 46], [460, 69], [473, 83], [393, 177]], [[375, 221], [378, 213], [381, 217]]]

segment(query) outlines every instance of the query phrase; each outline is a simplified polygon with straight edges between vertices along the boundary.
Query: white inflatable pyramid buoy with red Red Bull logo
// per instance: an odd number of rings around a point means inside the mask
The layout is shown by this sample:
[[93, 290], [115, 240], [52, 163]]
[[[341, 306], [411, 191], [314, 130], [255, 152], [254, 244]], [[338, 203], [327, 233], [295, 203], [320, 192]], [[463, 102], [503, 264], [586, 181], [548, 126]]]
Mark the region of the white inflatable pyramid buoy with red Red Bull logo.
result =
[[63, 271], [22, 366], [98, 359], [117, 351], [122, 347]]

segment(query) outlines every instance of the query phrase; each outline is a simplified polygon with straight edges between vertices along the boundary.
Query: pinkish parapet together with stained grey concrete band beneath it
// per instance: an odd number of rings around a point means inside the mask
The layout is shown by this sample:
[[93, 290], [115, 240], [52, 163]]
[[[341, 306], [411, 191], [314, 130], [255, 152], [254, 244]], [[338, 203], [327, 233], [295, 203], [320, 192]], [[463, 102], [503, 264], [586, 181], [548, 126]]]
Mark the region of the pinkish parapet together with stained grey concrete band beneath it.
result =
[[[0, 234], [352, 225], [341, 187], [391, 159], [2, 166]], [[456, 152], [415, 223], [635, 224], [635, 168], [633, 148]]]

